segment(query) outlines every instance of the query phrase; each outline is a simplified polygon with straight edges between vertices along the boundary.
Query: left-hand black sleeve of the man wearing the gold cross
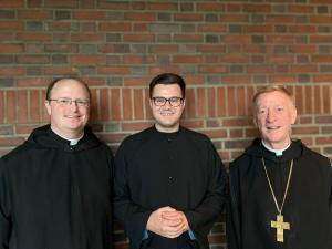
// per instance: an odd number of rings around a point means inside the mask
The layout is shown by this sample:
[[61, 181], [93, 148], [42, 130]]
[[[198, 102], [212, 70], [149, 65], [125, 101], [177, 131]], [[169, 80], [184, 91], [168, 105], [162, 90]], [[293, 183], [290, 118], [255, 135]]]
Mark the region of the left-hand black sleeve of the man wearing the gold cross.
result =
[[226, 235], [228, 249], [240, 249], [239, 178], [236, 163], [229, 166], [229, 198], [227, 201]]

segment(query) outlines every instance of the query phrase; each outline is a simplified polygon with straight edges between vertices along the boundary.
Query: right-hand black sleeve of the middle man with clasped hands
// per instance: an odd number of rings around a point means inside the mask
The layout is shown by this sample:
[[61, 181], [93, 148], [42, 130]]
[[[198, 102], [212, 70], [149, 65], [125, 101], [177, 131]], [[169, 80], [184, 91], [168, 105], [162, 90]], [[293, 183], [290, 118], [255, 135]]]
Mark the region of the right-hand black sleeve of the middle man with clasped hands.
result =
[[205, 198], [196, 208], [185, 210], [189, 227], [196, 237], [206, 237], [208, 235], [224, 209], [227, 199], [225, 166], [211, 142], [208, 143], [207, 149], [209, 153], [207, 162], [209, 185], [207, 186]]

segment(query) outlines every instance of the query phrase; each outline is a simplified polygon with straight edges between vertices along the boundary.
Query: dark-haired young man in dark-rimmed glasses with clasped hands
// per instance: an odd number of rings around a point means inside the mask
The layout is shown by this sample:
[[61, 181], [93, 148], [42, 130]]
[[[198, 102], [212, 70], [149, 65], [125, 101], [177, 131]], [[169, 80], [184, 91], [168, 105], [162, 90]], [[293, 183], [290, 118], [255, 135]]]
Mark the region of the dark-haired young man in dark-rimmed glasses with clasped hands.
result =
[[226, 173], [210, 139], [179, 125], [186, 84], [172, 73], [149, 84], [154, 126], [128, 136], [115, 156], [114, 211], [131, 249], [209, 248], [225, 203]]

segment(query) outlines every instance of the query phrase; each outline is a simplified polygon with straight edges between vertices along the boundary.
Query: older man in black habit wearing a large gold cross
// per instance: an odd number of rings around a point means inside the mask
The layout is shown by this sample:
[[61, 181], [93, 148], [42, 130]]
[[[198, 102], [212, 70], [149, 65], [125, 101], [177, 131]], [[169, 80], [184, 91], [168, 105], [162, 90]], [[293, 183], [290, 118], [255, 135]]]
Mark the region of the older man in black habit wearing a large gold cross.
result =
[[261, 134], [230, 165], [229, 249], [331, 249], [326, 157], [291, 139], [297, 108], [284, 87], [253, 96]]

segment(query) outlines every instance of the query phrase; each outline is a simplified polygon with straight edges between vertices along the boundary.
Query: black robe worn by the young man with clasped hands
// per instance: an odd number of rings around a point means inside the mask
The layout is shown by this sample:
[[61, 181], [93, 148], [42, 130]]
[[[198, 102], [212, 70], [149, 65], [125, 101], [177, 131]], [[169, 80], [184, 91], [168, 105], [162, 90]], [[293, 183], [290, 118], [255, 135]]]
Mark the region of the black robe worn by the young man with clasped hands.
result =
[[[155, 127], [127, 137], [115, 156], [115, 217], [124, 226], [131, 249], [208, 248], [207, 235], [225, 203], [226, 173], [210, 139], [180, 127]], [[165, 206], [185, 212], [188, 232], [168, 239], [148, 231], [149, 215]]]

